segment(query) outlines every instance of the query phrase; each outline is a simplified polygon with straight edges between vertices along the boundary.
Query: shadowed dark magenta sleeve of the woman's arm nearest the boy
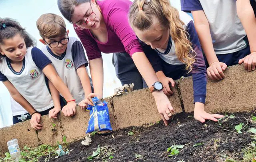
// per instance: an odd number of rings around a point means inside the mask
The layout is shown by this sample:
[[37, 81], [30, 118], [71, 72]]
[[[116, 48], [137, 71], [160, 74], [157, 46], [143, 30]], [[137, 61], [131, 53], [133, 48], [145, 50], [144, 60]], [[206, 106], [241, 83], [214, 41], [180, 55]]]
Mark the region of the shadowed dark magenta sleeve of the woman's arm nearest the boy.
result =
[[89, 61], [102, 57], [96, 41], [85, 30], [75, 29], [75, 31], [84, 46]]

